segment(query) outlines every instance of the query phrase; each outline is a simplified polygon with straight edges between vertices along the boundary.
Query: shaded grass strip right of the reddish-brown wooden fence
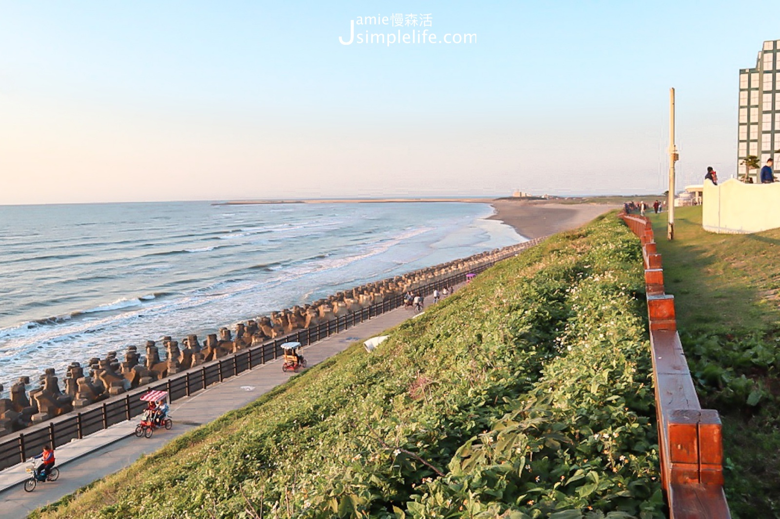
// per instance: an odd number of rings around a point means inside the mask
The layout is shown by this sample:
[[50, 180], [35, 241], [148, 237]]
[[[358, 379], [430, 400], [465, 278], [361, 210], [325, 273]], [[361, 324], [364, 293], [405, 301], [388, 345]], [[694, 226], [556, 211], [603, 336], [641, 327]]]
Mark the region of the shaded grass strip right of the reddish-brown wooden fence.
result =
[[780, 517], [780, 229], [716, 235], [679, 208], [675, 240], [653, 215], [666, 289], [704, 407], [721, 412], [734, 517]]

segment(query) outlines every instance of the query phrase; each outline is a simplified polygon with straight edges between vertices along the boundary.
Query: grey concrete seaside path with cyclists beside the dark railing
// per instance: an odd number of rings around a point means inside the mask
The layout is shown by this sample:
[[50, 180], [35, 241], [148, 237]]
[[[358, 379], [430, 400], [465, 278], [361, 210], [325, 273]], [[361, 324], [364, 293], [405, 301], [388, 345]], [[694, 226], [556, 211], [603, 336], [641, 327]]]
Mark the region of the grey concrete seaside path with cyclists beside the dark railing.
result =
[[[433, 300], [432, 296], [427, 299]], [[303, 348], [303, 355], [308, 365], [315, 365], [345, 350], [349, 344], [374, 337], [414, 315], [411, 309], [392, 310], [340, 334], [310, 344]], [[242, 408], [284, 383], [290, 376], [291, 374], [282, 372], [282, 359], [279, 358], [173, 402], [173, 428], [169, 431], [155, 430], [150, 439], [137, 438], [133, 434], [138, 422], [136, 419], [113, 425], [83, 440], [59, 447], [55, 453], [57, 466], [60, 468], [58, 480], [38, 483], [31, 493], [24, 492], [22, 488], [23, 481], [29, 478], [25, 471], [26, 464], [0, 471], [0, 517], [27, 517], [32, 510], [54, 503], [96, 479], [125, 468], [141, 454], [158, 450], [176, 436], [211, 422], [227, 411]]]

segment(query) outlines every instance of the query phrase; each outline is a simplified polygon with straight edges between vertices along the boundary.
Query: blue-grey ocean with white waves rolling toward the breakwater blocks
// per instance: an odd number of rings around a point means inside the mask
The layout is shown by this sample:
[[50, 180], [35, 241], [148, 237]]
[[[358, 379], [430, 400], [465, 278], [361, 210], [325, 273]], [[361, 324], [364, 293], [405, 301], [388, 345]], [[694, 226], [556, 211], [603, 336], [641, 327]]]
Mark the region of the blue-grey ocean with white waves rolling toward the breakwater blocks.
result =
[[0, 207], [0, 383], [523, 242], [487, 203]]

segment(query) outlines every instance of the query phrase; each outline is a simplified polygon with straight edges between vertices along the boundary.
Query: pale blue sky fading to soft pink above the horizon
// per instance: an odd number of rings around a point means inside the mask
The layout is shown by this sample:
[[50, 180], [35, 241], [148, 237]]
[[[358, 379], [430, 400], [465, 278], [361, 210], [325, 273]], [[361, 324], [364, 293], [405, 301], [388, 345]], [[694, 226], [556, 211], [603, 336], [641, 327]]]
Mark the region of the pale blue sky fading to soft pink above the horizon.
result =
[[682, 189], [734, 175], [774, 39], [739, 2], [0, 0], [0, 204], [662, 192], [669, 87]]

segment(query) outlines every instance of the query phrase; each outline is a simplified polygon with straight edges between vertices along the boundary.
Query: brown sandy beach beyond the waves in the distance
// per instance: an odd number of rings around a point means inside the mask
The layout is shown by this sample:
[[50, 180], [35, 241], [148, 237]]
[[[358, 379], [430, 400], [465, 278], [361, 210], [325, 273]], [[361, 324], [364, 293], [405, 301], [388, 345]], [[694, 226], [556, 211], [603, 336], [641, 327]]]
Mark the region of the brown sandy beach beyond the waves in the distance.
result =
[[539, 238], [580, 227], [619, 205], [607, 203], [558, 203], [553, 200], [494, 200], [491, 220], [511, 225], [526, 238]]

